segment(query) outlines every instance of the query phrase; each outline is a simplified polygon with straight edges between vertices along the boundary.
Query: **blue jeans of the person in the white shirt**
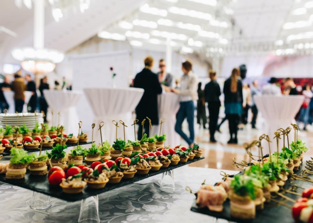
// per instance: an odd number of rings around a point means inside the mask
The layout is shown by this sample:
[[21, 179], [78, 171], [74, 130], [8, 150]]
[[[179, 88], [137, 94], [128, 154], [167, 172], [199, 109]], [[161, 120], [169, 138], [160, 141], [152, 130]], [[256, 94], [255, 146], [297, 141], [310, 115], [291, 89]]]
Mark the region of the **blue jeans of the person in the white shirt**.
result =
[[[176, 114], [175, 131], [188, 143], [188, 146], [189, 146], [193, 143], [194, 138], [195, 138], [195, 132], [194, 132], [195, 106], [193, 104], [193, 101], [184, 101], [184, 102], [180, 102], [179, 104], [180, 104], [180, 107]], [[188, 137], [182, 131], [182, 123], [185, 120], [185, 118], [187, 118], [190, 137]]]

